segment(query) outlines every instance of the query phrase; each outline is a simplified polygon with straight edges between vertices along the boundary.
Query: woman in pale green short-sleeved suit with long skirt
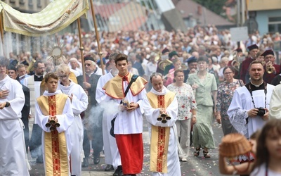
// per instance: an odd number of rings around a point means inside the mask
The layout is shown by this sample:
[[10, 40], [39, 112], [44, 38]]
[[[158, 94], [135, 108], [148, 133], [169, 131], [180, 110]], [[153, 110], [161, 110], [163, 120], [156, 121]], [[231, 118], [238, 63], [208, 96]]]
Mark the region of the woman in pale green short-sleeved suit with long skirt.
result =
[[[213, 99], [216, 104], [216, 78], [207, 73], [208, 58], [200, 56], [197, 60], [198, 72], [188, 77], [187, 83], [196, 89], [195, 99], [197, 102], [197, 122], [193, 125], [193, 142], [195, 146], [194, 156], [199, 156], [203, 150], [205, 158], [210, 158], [208, 149], [215, 147], [211, 123], [213, 119]], [[214, 108], [216, 109], [216, 108]]]

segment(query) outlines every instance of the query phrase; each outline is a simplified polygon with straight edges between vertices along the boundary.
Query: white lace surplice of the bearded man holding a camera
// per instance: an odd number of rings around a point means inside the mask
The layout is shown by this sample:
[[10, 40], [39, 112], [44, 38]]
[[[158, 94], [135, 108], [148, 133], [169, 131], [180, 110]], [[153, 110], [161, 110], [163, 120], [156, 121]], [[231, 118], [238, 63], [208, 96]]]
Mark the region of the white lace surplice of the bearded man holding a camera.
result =
[[[266, 108], [269, 107], [269, 102], [271, 99], [271, 94], [273, 92], [274, 86], [267, 84], [267, 94], [266, 94]], [[265, 92], [264, 90], [256, 90], [252, 92], [253, 99], [256, 108], [265, 107]], [[249, 139], [251, 134], [256, 132], [256, 130], [261, 129], [266, 123], [261, 117], [256, 116], [254, 118], [249, 117], [247, 111], [254, 108], [254, 104], [251, 101], [251, 94], [247, 87], [239, 87], [235, 90], [233, 94], [233, 100], [228, 108], [228, 116], [230, 117], [230, 122], [235, 127], [237, 132], [244, 134], [245, 137]], [[248, 118], [248, 123], [246, 121]]]

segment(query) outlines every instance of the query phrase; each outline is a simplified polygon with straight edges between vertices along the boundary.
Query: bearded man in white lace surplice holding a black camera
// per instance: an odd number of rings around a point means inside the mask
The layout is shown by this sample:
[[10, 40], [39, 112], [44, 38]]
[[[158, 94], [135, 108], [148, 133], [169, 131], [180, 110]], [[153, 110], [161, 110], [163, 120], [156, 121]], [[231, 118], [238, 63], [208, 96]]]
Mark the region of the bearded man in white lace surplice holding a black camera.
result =
[[249, 66], [251, 81], [235, 90], [228, 108], [230, 122], [247, 139], [263, 127], [269, 118], [269, 103], [274, 86], [263, 80], [264, 69], [260, 61]]

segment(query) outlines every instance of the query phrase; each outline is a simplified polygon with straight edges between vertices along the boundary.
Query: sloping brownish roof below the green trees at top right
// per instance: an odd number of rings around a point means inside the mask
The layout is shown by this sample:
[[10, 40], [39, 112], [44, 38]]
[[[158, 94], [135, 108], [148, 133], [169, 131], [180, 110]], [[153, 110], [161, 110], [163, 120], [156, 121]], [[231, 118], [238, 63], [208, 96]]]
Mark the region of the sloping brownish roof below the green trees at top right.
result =
[[[183, 18], [188, 18], [192, 13], [192, 16], [195, 19], [199, 19], [202, 24], [206, 21], [206, 25], [235, 25], [235, 23], [231, 23], [225, 18], [217, 15], [216, 13], [209, 11], [209, 9], [204, 8], [204, 6], [197, 4], [195, 1], [191, 0], [181, 0], [181, 1], [173, 1], [176, 9], [181, 12]], [[202, 14], [198, 14], [198, 9], [202, 10]], [[206, 18], [206, 19], [204, 19]]]

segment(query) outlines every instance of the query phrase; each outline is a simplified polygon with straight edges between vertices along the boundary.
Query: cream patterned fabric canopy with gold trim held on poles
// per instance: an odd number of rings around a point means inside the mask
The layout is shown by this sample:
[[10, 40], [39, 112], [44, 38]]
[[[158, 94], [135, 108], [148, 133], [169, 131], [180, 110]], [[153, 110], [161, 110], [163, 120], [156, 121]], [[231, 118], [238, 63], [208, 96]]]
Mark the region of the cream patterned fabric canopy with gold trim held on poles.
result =
[[1, 1], [4, 30], [32, 37], [63, 30], [89, 10], [88, 0], [52, 1], [39, 13], [21, 13]]

